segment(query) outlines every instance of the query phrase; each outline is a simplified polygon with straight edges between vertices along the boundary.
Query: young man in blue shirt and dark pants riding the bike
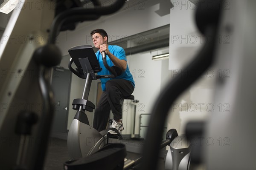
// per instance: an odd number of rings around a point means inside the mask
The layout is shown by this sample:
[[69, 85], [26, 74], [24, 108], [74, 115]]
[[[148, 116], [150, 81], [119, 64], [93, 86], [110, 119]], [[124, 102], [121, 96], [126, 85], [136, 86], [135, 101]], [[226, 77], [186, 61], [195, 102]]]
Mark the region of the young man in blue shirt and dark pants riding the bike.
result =
[[[118, 66], [122, 69], [122, 74], [116, 78], [102, 78], [102, 95], [96, 106], [93, 119], [93, 128], [98, 131], [105, 130], [108, 124], [110, 110], [113, 112], [112, 128], [119, 132], [124, 130], [122, 124], [122, 106], [120, 100], [122, 96], [129, 96], [134, 91], [134, 80], [127, 65], [125, 51], [122, 47], [108, 45], [108, 34], [103, 29], [95, 29], [90, 35], [92, 36], [94, 46], [99, 49], [96, 52], [99, 65], [102, 68], [98, 75], [110, 75], [111, 73], [105, 68], [102, 61], [102, 52], [105, 51], [108, 65]], [[108, 133], [116, 135], [113, 130]]]

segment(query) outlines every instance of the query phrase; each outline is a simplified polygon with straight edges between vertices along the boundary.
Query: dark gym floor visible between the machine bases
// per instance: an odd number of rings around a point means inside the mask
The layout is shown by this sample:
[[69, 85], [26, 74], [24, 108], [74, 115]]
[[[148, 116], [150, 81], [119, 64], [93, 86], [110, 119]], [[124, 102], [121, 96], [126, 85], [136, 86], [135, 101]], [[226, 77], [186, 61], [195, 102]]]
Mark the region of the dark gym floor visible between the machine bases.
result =
[[[127, 153], [128, 159], [140, 157], [137, 153]], [[67, 152], [67, 141], [58, 138], [50, 138], [48, 150], [45, 158], [44, 170], [63, 170], [63, 163], [69, 160]], [[164, 170], [163, 158], [159, 158], [159, 167], [157, 170]], [[102, 168], [102, 170], [104, 170]]]

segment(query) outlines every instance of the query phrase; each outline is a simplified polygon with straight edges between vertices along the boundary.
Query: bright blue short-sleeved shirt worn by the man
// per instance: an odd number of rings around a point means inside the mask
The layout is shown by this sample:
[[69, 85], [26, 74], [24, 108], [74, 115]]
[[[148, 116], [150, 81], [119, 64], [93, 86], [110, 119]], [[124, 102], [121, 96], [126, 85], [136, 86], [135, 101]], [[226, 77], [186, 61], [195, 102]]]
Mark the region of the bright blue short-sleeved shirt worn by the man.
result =
[[[120, 60], [127, 61], [126, 56], [125, 56], [125, 50], [122, 47], [109, 45], [108, 50], [114, 56], [119, 58]], [[103, 64], [101, 53], [99, 51], [97, 51], [95, 54], [96, 54], [96, 57], [99, 61], [99, 66], [102, 68], [102, 71], [98, 72], [97, 74], [98, 75], [111, 75], [111, 72], [108, 71], [108, 69], [106, 69], [104, 64]], [[107, 60], [107, 63], [110, 67], [114, 66], [111, 59], [108, 57], [108, 55], [106, 55], [106, 60]], [[127, 64], [126, 70], [124, 72], [122, 72], [121, 75], [117, 76], [116, 78], [101, 78], [100, 79], [103, 91], [106, 90], [106, 87], [105, 87], [106, 82], [109, 81], [110, 79], [125, 79], [125, 80], [128, 80], [128, 81], [131, 81], [131, 84], [135, 87], [134, 79], [132, 78], [132, 75], [131, 75], [131, 72], [129, 70], [128, 64]]]

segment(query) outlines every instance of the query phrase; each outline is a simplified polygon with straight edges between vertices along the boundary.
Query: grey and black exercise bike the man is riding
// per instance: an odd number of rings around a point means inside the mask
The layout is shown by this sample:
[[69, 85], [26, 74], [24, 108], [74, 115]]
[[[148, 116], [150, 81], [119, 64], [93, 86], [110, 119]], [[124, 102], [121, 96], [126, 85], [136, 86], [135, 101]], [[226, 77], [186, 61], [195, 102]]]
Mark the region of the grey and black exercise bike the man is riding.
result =
[[[99, 66], [99, 62], [92, 49], [92, 46], [75, 46], [68, 50], [70, 53], [69, 69], [79, 78], [85, 79], [84, 91], [81, 98], [73, 100], [73, 109], [77, 110], [76, 115], [70, 125], [70, 130], [67, 137], [67, 147], [70, 159], [82, 158], [89, 156], [103, 146], [109, 143], [109, 138], [113, 143], [117, 143], [118, 139], [122, 139], [122, 135], [116, 130], [117, 135], [107, 134], [108, 129], [98, 132], [96, 129], [90, 126], [85, 111], [93, 112], [95, 105], [88, 101], [90, 92], [90, 86], [92, 80], [99, 78], [115, 78], [122, 74], [122, 70], [117, 66], [108, 66], [106, 61], [105, 52], [102, 52], [102, 60], [104, 66], [112, 73], [112, 75], [96, 75], [102, 68]], [[72, 68], [72, 63], [76, 64], [76, 70]], [[121, 98], [121, 104], [124, 99], [134, 100], [134, 96], [124, 96]], [[109, 123], [112, 120], [109, 121]]]

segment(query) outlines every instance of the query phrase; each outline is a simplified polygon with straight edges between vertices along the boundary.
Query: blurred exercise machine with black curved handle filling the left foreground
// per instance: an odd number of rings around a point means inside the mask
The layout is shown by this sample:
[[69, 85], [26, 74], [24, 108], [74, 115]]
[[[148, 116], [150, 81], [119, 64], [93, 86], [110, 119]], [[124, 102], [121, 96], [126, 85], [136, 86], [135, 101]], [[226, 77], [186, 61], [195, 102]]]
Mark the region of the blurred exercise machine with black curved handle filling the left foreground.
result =
[[35, 0], [42, 5], [38, 10], [18, 1], [1, 38], [0, 169], [43, 169], [55, 109], [52, 67], [62, 58], [56, 37], [76, 23], [118, 11], [125, 0], [110, 6], [92, 2], [84, 9], [79, 0]]

